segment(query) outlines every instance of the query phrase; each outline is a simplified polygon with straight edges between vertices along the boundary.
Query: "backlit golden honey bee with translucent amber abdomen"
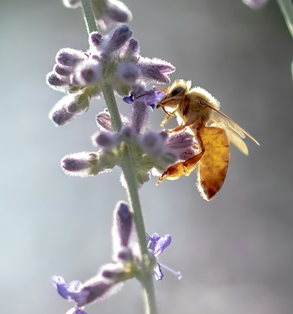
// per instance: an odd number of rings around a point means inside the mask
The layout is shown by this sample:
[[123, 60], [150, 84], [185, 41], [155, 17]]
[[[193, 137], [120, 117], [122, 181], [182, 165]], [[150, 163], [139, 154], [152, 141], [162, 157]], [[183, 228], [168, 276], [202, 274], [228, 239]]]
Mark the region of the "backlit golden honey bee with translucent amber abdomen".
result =
[[219, 111], [220, 103], [207, 90], [196, 86], [191, 88], [191, 81], [176, 80], [164, 89], [165, 96], [157, 105], [167, 114], [161, 123], [165, 126], [171, 116], [176, 116], [178, 127], [169, 132], [188, 129], [198, 141], [199, 153], [196, 156], [170, 166], [159, 178], [178, 179], [189, 176], [197, 168], [197, 188], [201, 196], [209, 201], [221, 189], [226, 178], [229, 163], [229, 143], [233, 143], [243, 154], [248, 155], [248, 148], [242, 138], [249, 133], [224, 113]]

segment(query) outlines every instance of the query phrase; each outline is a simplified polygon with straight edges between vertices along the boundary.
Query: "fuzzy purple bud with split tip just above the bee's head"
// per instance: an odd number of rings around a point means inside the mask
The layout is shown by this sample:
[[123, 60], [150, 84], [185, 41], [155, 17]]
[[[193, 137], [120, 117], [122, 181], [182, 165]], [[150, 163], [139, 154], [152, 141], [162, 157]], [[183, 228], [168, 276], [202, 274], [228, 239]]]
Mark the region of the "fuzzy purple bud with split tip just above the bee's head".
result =
[[140, 57], [137, 63], [141, 68], [142, 79], [148, 83], [169, 84], [169, 75], [175, 71], [175, 67], [158, 58]]

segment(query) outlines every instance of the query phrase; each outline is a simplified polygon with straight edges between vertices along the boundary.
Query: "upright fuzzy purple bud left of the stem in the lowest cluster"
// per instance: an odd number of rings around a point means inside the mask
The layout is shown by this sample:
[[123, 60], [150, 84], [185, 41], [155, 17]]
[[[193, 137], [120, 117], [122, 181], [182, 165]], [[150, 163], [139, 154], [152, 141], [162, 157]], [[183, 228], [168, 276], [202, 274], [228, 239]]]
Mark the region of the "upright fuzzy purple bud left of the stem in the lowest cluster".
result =
[[[114, 210], [113, 243], [119, 241], [119, 247], [127, 247], [133, 225], [133, 214], [126, 203], [120, 202]], [[118, 240], [119, 239], [119, 240]], [[115, 248], [114, 251], [117, 251]]]

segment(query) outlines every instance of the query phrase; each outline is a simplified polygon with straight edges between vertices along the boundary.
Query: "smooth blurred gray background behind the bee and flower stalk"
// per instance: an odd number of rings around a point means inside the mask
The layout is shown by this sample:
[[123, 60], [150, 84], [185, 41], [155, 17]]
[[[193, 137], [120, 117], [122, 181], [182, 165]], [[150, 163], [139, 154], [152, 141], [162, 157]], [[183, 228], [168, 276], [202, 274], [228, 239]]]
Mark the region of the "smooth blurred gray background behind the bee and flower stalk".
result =
[[[293, 312], [292, 38], [275, 1], [253, 11], [240, 0], [126, 0], [141, 54], [176, 66], [221, 102], [249, 138], [249, 157], [231, 148], [217, 198], [198, 194], [196, 176], [152, 178], [140, 191], [149, 233], [171, 234], [160, 261], [160, 313]], [[110, 261], [112, 210], [126, 200], [120, 169], [66, 176], [65, 154], [92, 151], [94, 100], [76, 122], [54, 127], [48, 112], [62, 94], [45, 84], [62, 47], [86, 50], [80, 9], [61, 1], [1, 1], [1, 250], [3, 313], [65, 313], [51, 276], [85, 281]], [[119, 99], [122, 112], [128, 106]], [[151, 114], [154, 129], [164, 114]], [[175, 121], [170, 123], [175, 126]], [[139, 283], [128, 281], [94, 313], [142, 313]]]

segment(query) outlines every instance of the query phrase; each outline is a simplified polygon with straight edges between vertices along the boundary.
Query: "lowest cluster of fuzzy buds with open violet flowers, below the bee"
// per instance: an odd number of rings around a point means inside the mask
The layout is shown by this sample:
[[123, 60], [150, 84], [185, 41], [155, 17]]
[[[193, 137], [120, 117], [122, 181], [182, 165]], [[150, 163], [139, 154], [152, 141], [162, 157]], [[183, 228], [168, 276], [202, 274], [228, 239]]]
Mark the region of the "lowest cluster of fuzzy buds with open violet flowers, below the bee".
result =
[[[86, 314], [83, 311], [85, 305], [112, 296], [128, 279], [134, 277], [141, 279], [141, 261], [136, 253], [134, 238], [133, 214], [126, 203], [119, 202], [113, 215], [112, 263], [102, 265], [97, 275], [84, 284], [78, 280], [66, 284], [62, 277], [53, 276], [53, 284], [57, 292], [66, 300], [73, 300], [76, 303], [76, 306], [69, 311], [70, 313]], [[170, 245], [171, 236], [160, 237], [157, 233], [153, 236], [146, 234], [146, 239], [150, 250], [149, 272], [154, 274], [156, 280], [161, 280], [163, 273], [158, 257]]]

